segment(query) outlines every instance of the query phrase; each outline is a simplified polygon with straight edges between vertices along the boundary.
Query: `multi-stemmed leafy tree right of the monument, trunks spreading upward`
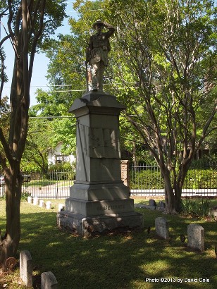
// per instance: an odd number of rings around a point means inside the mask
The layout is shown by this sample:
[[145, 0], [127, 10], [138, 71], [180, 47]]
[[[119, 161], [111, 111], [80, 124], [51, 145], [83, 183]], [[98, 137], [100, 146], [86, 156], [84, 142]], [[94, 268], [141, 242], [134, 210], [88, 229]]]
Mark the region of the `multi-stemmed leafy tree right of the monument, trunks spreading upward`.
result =
[[126, 116], [161, 168], [166, 212], [173, 214], [181, 209], [182, 185], [194, 155], [215, 129], [214, 3], [105, 3], [117, 27], [113, 78], [125, 84], [125, 73], [116, 64], [126, 63], [136, 84], [125, 92], [117, 87], [117, 92], [128, 99]]

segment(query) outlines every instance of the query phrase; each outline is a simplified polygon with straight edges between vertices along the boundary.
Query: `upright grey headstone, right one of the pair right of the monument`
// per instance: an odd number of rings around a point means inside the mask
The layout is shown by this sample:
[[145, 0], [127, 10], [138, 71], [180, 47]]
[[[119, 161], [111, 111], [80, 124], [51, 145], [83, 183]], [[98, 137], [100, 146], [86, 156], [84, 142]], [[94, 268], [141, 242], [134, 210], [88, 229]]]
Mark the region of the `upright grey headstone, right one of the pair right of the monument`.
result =
[[187, 226], [187, 247], [204, 251], [204, 228], [197, 223]]

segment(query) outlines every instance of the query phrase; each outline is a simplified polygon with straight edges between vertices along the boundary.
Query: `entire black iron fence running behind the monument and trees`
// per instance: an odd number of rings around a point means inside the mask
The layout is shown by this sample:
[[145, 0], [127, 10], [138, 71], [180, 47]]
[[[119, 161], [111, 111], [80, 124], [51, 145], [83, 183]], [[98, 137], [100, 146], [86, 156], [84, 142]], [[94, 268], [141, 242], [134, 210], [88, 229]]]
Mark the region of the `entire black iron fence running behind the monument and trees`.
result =
[[[74, 183], [75, 171], [49, 173], [23, 173], [22, 192], [43, 199], [66, 198]], [[130, 170], [130, 192], [133, 195], [164, 195], [163, 178], [158, 166], [142, 164]], [[217, 197], [217, 167], [192, 167], [187, 173], [182, 195]], [[0, 197], [4, 197], [4, 183], [0, 184]]]

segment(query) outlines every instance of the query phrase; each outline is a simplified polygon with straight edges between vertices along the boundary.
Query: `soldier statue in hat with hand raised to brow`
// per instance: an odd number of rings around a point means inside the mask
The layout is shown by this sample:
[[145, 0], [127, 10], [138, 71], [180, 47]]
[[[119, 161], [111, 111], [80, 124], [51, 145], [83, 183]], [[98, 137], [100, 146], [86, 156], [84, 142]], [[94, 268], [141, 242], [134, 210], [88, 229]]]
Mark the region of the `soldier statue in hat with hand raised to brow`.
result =
[[[108, 29], [102, 32], [103, 27]], [[115, 32], [115, 28], [109, 23], [97, 20], [93, 24], [97, 33], [89, 38], [87, 47], [87, 62], [92, 66], [92, 90], [103, 90], [102, 80], [106, 66], [109, 64], [108, 54], [111, 50], [109, 37]]]

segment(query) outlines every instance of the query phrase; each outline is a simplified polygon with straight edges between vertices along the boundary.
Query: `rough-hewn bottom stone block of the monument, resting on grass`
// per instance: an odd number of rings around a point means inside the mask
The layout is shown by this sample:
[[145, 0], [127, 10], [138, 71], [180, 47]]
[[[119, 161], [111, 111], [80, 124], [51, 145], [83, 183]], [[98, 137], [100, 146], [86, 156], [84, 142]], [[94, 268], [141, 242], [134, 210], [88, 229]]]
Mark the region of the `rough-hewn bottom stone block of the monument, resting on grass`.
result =
[[58, 228], [69, 230], [83, 237], [103, 235], [111, 232], [125, 232], [143, 228], [143, 215], [135, 212], [85, 217], [70, 211], [59, 211]]

